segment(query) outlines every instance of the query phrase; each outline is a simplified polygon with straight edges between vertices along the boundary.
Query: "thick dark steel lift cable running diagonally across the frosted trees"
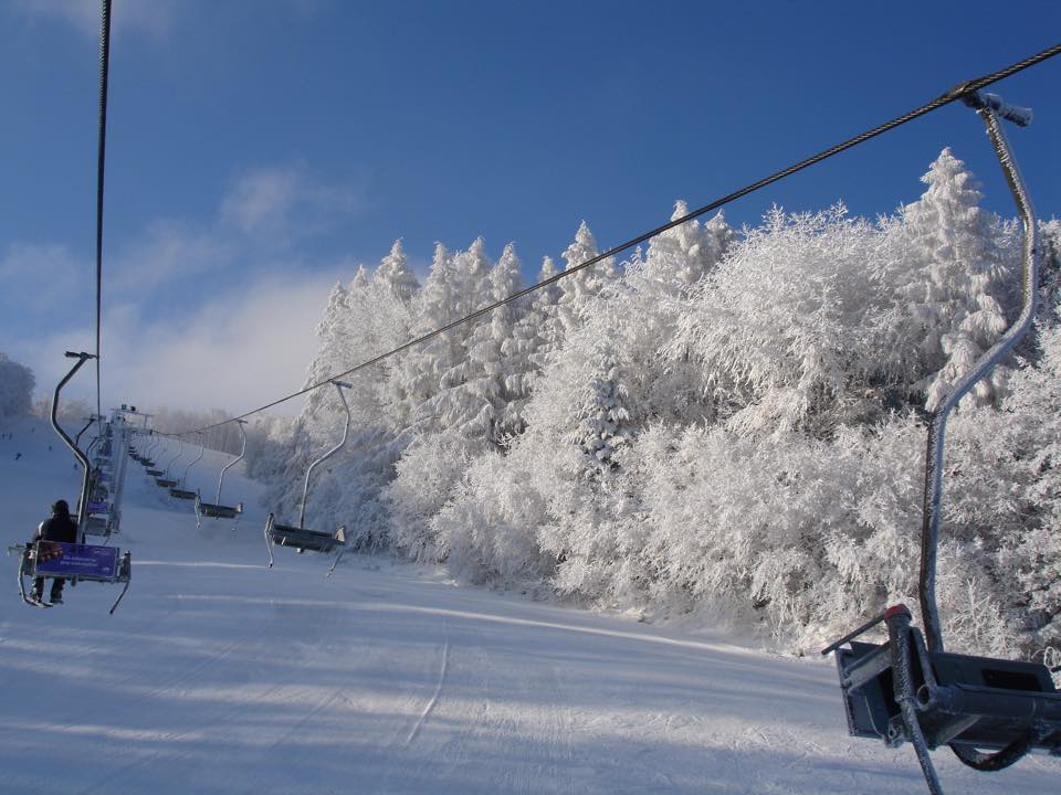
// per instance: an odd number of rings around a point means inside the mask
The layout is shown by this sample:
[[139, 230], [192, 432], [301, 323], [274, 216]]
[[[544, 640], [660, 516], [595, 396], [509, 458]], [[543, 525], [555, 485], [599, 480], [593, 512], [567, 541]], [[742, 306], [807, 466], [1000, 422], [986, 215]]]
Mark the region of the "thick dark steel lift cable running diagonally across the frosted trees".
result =
[[1042, 63], [1043, 61], [1047, 61], [1047, 60], [1049, 60], [1049, 59], [1051, 59], [1051, 57], [1053, 57], [1053, 56], [1055, 56], [1055, 55], [1059, 55], [1059, 54], [1061, 54], [1061, 43], [1054, 44], [1053, 46], [1050, 46], [1050, 47], [1047, 47], [1046, 50], [1043, 50], [1043, 51], [1041, 51], [1041, 52], [1039, 52], [1039, 53], [1037, 53], [1037, 54], [1034, 54], [1034, 55], [1030, 55], [1029, 57], [1026, 57], [1026, 59], [1023, 59], [1022, 61], [1018, 61], [1018, 62], [1016, 62], [1016, 63], [1013, 63], [1013, 64], [1010, 64], [1009, 66], [1007, 66], [1007, 67], [1005, 67], [1005, 68], [1002, 68], [1002, 70], [999, 70], [998, 72], [992, 72], [992, 73], [990, 73], [990, 74], [984, 75], [983, 77], [977, 77], [977, 78], [975, 78], [975, 80], [970, 80], [970, 81], [966, 81], [966, 82], [964, 82], [964, 83], [960, 83], [959, 85], [955, 86], [955, 87], [952, 88], [950, 91], [947, 91], [947, 92], [945, 92], [944, 94], [941, 94], [938, 97], [936, 97], [936, 98], [933, 99], [932, 102], [927, 103], [926, 105], [922, 105], [921, 107], [915, 108], [915, 109], [913, 109], [913, 110], [910, 110], [910, 112], [903, 114], [902, 116], [899, 116], [899, 117], [892, 119], [891, 121], [885, 121], [884, 124], [879, 125], [878, 127], [874, 127], [874, 128], [872, 128], [872, 129], [870, 129], [870, 130], [866, 130], [866, 131], [864, 131], [864, 132], [861, 132], [861, 134], [854, 136], [853, 138], [849, 138], [848, 140], [843, 141], [842, 144], [837, 144], [836, 146], [832, 146], [832, 147], [830, 147], [830, 148], [828, 148], [828, 149], [826, 149], [826, 150], [823, 150], [823, 151], [820, 151], [820, 152], [818, 152], [817, 155], [812, 155], [811, 157], [809, 157], [809, 158], [807, 158], [807, 159], [805, 159], [805, 160], [800, 160], [799, 162], [797, 162], [797, 163], [795, 163], [795, 165], [792, 165], [792, 166], [789, 166], [789, 167], [786, 168], [786, 169], [782, 169], [782, 170], [780, 170], [780, 171], [777, 171], [777, 172], [770, 174], [769, 177], [765, 177], [765, 178], [758, 180], [757, 182], [753, 182], [752, 184], [748, 184], [748, 186], [746, 186], [746, 187], [744, 187], [744, 188], [740, 188], [739, 190], [736, 190], [736, 191], [734, 191], [733, 193], [729, 193], [729, 194], [727, 194], [727, 195], [724, 195], [724, 197], [722, 197], [721, 199], [716, 199], [715, 201], [711, 202], [710, 204], [705, 204], [705, 205], [703, 205], [702, 208], [698, 208], [697, 210], [693, 210], [692, 212], [686, 213], [685, 215], [682, 215], [681, 218], [674, 219], [673, 221], [670, 221], [669, 223], [665, 223], [665, 224], [663, 224], [662, 226], [656, 226], [655, 229], [651, 230], [650, 232], [645, 232], [645, 233], [643, 233], [643, 234], [641, 234], [641, 235], [638, 235], [637, 237], [633, 237], [633, 239], [631, 239], [631, 240], [629, 240], [629, 241], [627, 241], [627, 242], [624, 242], [624, 243], [620, 243], [619, 245], [617, 245], [617, 246], [614, 246], [614, 247], [612, 247], [612, 248], [609, 248], [608, 251], [603, 252], [602, 254], [598, 254], [597, 256], [591, 257], [590, 259], [587, 259], [586, 262], [580, 263], [579, 265], [575, 265], [574, 267], [569, 267], [569, 268], [567, 268], [566, 271], [561, 271], [560, 273], [558, 273], [558, 274], [556, 274], [556, 275], [554, 275], [554, 276], [550, 276], [550, 277], [547, 278], [547, 279], [543, 279], [542, 282], [538, 282], [537, 284], [530, 285], [529, 287], [525, 287], [524, 289], [518, 290], [517, 293], [513, 293], [512, 295], [510, 295], [510, 296], [506, 297], [506, 298], [502, 298], [501, 300], [494, 301], [493, 304], [491, 304], [491, 305], [489, 305], [489, 306], [482, 307], [481, 309], [476, 309], [475, 311], [471, 312], [470, 315], [466, 315], [466, 316], [464, 316], [464, 317], [462, 317], [462, 318], [460, 318], [460, 319], [458, 319], [458, 320], [454, 320], [454, 321], [452, 321], [452, 322], [450, 322], [450, 324], [447, 324], [445, 326], [442, 326], [442, 327], [440, 327], [440, 328], [437, 328], [437, 329], [434, 329], [433, 331], [429, 331], [428, 333], [422, 335], [422, 336], [420, 336], [420, 337], [417, 337], [416, 339], [409, 340], [408, 342], [405, 342], [403, 344], [400, 344], [400, 346], [398, 346], [397, 348], [393, 348], [393, 349], [391, 349], [391, 350], [389, 350], [389, 351], [387, 351], [387, 352], [385, 352], [385, 353], [380, 353], [380, 354], [377, 356], [377, 357], [372, 357], [371, 359], [368, 359], [368, 360], [366, 360], [366, 361], [364, 361], [364, 362], [361, 362], [361, 363], [359, 363], [359, 364], [356, 364], [355, 367], [351, 367], [349, 370], [345, 370], [345, 371], [343, 371], [343, 372], [340, 372], [340, 373], [337, 373], [337, 374], [334, 374], [334, 375], [329, 375], [329, 377], [328, 377], [327, 379], [325, 379], [324, 381], [319, 381], [319, 382], [317, 382], [317, 383], [311, 384], [309, 386], [306, 386], [306, 388], [304, 388], [304, 389], [302, 389], [302, 390], [300, 390], [300, 391], [297, 391], [297, 392], [293, 392], [292, 394], [288, 394], [288, 395], [286, 395], [285, 398], [281, 398], [281, 399], [279, 399], [279, 400], [275, 400], [275, 401], [273, 401], [272, 403], [266, 403], [265, 405], [259, 406], [258, 409], [252, 409], [251, 411], [244, 412], [243, 414], [240, 414], [239, 416], [230, 417], [229, 420], [223, 420], [223, 421], [221, 421], [221, 422], [219, 422], [219, 423], [214, 423], [214, 424], [212, 424], [212, 425], [204, 425], [204, 426], [199, 427], [199, 428], [193, 428], [193, 430], [190, 430], [190, 431], [179, 432], [179, 433], [176, 434], [176, 435], [183, 435], [183, 434], [188, 434], [188, 433], [197, 433], [197, 432], [202, 432], [202, 431], [210, 431], [210, 430], [212, 430], [212, 428], [220, 427], [220, 426], [222, 426], [222, 425], [227, 425], [227, 424], [229, 424], [229, 423], [231, 423], [231, 422], [238, 422], [238, 421], [246, 420], [248, 417], [253, 416], [254, 414], [259, 414], [260, 412], [266, 411], [266, 410], [269, 410], [269, 409], [273, 409], [274, 406], [277, 406], [277, 405], [280, 405], [281, 403], [286, 403], [286, 402], [290, 401], [290, 400], [294, 400], [295, 398], [301, 398], [302, 395], [308, 394], [309, 392], [313, 392], [313, 391], [315, 391], [315, 390], [318, 390], [318, 389], [321, 389], [322, 386], [326, 386], [327, 384], [332, 383], [332, 381], [334, 381], [335, 379], [346, 378], [346, 377], [351, 375], [353, 373], [355, 373], [355, 372], [357, 372], [357, 371], [359, 371], [359, 370], [364, 370], [364, 369], [369, 368], [369, 367], [371, 367], [371, 365], [374, 365], [374, 364], [378, 364], [379, 362], [381, 362], [381, 361], [384, 361], [384, 360], [386, 360], [386, 359], [389, 359], [390, 357], [397, 356], [398, 353], [401, 353], [401, 352], [403, 352], [403, 351], [407, 351], [407, 350], [409, 350], [410, 348], [414, 348], [414, 347], [417, 347], [417, 346], [419, 346], [419, 344], [422, 344], [423, 342], [427, 342], [427, 341], [429, 341], [429, 340], [431, 340], [431, 339], [434, 339], [435, 337], [438, 337], [438, 336], [440, 336], [440, 335], [443, 335], [443, 333], [445, 333], [447, 331], [451, 331], [451, 330], [453, 330], [454, 328], [456, 328], [458, 326], [462, 326], [462, 325], [464, 325], [464, 324], [466, 324], [466, 322], [471, 322], [472, 320], [476, 320], [476, 319], [483, 317], [484, 315], [489, 315], [490, 312], [494, 311], [495, 309], [498, 309], [500, 307], [503, 307], [503, 306], [505, 306], [505, 305], [507, 305], [507, 304], [512, 304], [513, 301], [517, 301], [517, 300], [519, 300], [521, 298], [524, 298], [525, 296], [527, 296], [527, 295], [529, 295], [529, 294], [532, 294], [532, 293], [534, 293], [534, 292], [536, 292], [536, 290], [542, 289], [543, 287], [548, 287], [549, 285], [559, 282], [561, 278], [566, 278], [567, 276], [570, 276], [571, 274], [578, 273], [579, 271], [582, 271], [582, 269], [585, 269], [585, 268], [587, 268], [587, 267], [590, 267], [591, 265], [596, 265], [597, 263], [599, 263], [599, 262], [601, 262], [601, 261], [603, 261], [603, 259], [608, 259], [609, 257], [612, 257], [612, 256], [614, 256], [614, 255], [617, 255], [617, 254], [620, 254], [620, 253], [627, 251], [628, 248], [632, 248], [632, 247], [635, 246], [635, 245], [640, 245], [641, 243], [644, 243], [645, 241], [648, 241], [648, 240], [650, 240], [650, 239], [652, 239], [652, 237], [655, 237], [656, 235], [661, 234], [662, 232], [666, 232], [668, 230], [674, 229], [675, 226], [681, 226], [683, 223], [686, 223], [687, 221], [692, 221], [693, 219], [700, 218], [701, 215], [704, 215], [704, 214], [706, 214], [706, 213], [710, 213], [710, 212], [712, 212], [713, 210], [717, 210], [717, 209], [722, 208], [722, 206], [725, 205], [725, 204], [728, 204], [728, 203], [731, 203], [731, 202], [733, 202], [733, 201], [735, 201], [735, 200], [737, 200], [737, 199], [740, 199], [740, 198], [743, 198], [743, 197], [746, 197], [746, 195], [748, 195], [749, 193], [753, 193], [753, 192], [755, 192], [755, 191], [757, 191], [757, 190], [759, 190], [759, 189], [761, 189], [761, 188], [765, 188], [766, 186], [773, 184], [774, 182], [778, 182], [778, 181], [780, 181], [780, 180], [782, 180], [782, 179], [785, 179], [785, 178], [787, 178], [787, 177], [791, 177], [792, 174], [797, 173], [798, 171], [802, 171], [803, 169], [807, 169], [807, 168], [809, 168], [809, 167], [811, 167], [811, 166], [815, 166], [815, 165], [821, 162], [822, 160], [827, 160], [828, 158], [831, 158], [831, 157], [833, 157], [834, 155], [839, 155], [840, 152], [845, 151], [845, 150], [848, 150], [848, 149], [851, 149], [851, 148], [853, 148], [853, 147], [855, 147], [855, 146], [859, 146], [860, 144], [864, 144], [865, 141], [870, 140], [871, 138], [876, 138], [878, 136], [883, 135], [884, 132], [889, 132], [889, 131], [891, 131], [891, 130], [893, 130], [893, 129], [895, 129], [895, 128], [897, 128], [897, 127], [901, 127], [901, 126], [903, 126], [903, 125], [905, 125], [905, 124], [907, 124], [907, 123], [910, 123], [910, 121], [913, 121], [913, 120], [916, 119], [916, 118], [920, 118], [920, 117], [922, 117], [922, 116], [925, 116], [925, 115], [927, 115], [927, 114], [929, 114], [929, 113], [932, 113], [932, 112], [934, 112], [934, 110], [938, 110], [939, 108], [942, 108], [942, 107], [944, 107], [944, 106], [946, 106], [946, 105], [949, 105], [949, 104], [953, 103], [953, 102], [957, 102], [957, 100], [964, 99], [965, 97], [968, 97], [968, 96], [973, 95], [975, 92], [978, 92], [978, 91], [980, 91], [981, 88], [985, 88], [985, 87], [987, 87], [987, 86], [989, 86], [989, 85], [991, 85], [991, 84], [994, 84], [994, 83], [997, 83], [997, 82], [999, 82], [999, 81], [1001, 81], [1001, 80], [1005, 80], [1006, 77], [1011, 77], [1012, 75], [1017, 74], [1018, 72], [1022, 72], [1023, 70], [1026, 70], [1026, 68], [1028, 68], [1028, 67], [1030, 67], [1030, 66], [1034, 66], [1034, 65], [1037, 65], [1037, 64], [1040, 64], [1040, 63]]

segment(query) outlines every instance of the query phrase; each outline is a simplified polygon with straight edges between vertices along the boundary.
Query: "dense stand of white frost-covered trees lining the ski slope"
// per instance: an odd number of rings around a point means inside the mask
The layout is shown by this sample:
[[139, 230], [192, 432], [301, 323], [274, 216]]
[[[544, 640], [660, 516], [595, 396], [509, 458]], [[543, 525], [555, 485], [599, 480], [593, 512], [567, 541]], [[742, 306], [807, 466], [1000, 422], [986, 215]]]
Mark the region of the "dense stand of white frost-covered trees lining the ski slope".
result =
[[[710, 612], [794, 650], [916, 602], [921, 407], [1013, 314], [1018, 258], [1018, 229], [978, 210], [949, 152], [926, 179], [875, 223], [842, 205], [775, 210], [739, 239], [721, 215], [685, 223], [440, 335], [381, 369], [387, 389], [358, 382], [356, 433], [314, 498], [366, 549], [586, 604]], [[595, 255], [584, 224], [565, 261]], [[546, 259], [540, 278], [555, 273]], [[411, 301], [385, 283], [333, 295], [338, 359], [396, 338], [372, 318], [381, 295], [408, 307], [385, 312], [406, 318], [400, 342], [516, 292], [518, 263], [440, 245]], [[952, 423], [937, 592], [955, 649], [1061, 648], [1058, 327], [1043, 310], [1008, 391]]]

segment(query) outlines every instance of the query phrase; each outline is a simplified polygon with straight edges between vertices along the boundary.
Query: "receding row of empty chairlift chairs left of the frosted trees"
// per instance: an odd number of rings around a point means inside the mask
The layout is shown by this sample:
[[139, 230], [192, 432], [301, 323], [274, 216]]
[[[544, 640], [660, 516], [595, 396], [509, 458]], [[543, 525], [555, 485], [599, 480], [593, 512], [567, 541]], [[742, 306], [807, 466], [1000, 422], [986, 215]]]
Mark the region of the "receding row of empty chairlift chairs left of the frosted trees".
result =
[[[318, 552], [322, 554], [336, 553], [335, 560], [332, 562], [332, 566], [327, 572], [327, 576], [330, 576], [339, 561], [343, 559], [343, 554], [347, 550], [345, 526], [339, 526], [332, 532], [312, 530], [306, 527], [306, 501], [309, 495], [309, 484], [313, 473], [321, 464], [343, 449], [343, 447], [346, 445], [347, 438], [349, 438], [350, 407], [346, 401], [346, 395], [343, 393], [343, 390], [349, 389], [350, 385], [343, 381], [335, 380], [332, 381], [332, 384], [335, 386], [336, 393], [338, 394], [339, 401], [342, 402], [343, 409], [346, 413], [346, 421], [343, 426], [343, 436], [337, 445], [323, 453], [307, 467], [306, 477], [302, 487], [302, 501], [298, 510], [298, 522], [285, 523], [280, 521], [277, 520], [275, 512], [270, 512], [269, 517], [266, 518], [264, 537], [265, 552], [270, 569], [273, 568], [274, 563], [273, 549], [275, 547], [287, 547], [296, 550], [298, 554], [302, 554], [306, 551]], [[151, 446], [143, 454], [139, 453], [135, 447], [130, 447], [129, 456], [143, 465], [147, 475], [155, 479], [155, 484], [159, 488], [166, 489], [170, 497], [178, 500], [195, 500], [196, 524], [198, 527], [201, 527], [203, 519], [233, 519], [234, 521], [232, 523], [232, 529], [234, 531], [239, 519], [243, 513], [243, 504], [239, 502], [237, 505], [227, 505], [221, 501], [221, 495], [224, 489], [225, 474], [239, 462], [243, 460], [244, 456], [246, 455], [246, 433], [243, 430], [243, 425], [245, 423], [242, 420], [237, 422], [240, 430], [240, 455], [221, 468], [221, 474], [218, 478], [218, 491], [213, 502], [204, 501], [198, 489], [191, 490], [187, 487], [188, 475], [191, 471], [191, 468], [202, 459], [206, 451], [203, 445], [199, 445], [199, 455], [188, 464], [188, 466], [185, 468], [183, 475], [180, 478], [171, 478], [169, 473], [183, 454], [182, 441], [178, 439], [179, 447], [177, 455], [169, 459], [165, 469], [157, 468], [156, 460], [153, 457], [158, 448], [161, 434], [151, 434], [154, 437], [150, 443]]]

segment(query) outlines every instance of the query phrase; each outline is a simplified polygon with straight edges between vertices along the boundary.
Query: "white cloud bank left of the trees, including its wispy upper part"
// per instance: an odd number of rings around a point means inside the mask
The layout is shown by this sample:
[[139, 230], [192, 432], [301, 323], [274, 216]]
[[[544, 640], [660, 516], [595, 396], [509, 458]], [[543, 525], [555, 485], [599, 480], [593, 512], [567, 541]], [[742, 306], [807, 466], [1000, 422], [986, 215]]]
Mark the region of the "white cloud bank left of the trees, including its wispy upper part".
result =
[[[309, 268], [283, 252], [356, 212], [359, 197], [301, 166], [256, 169], [207, 223], [155, 221], [105, 253], [105, 400], [240, 411], [301, 389], [328, 292], [356, 267]], [[0, 330], [0, 350], [32, 368], [41, 391], [69, 369], [63, 351], [94, 349], [93, 274], [92, 263], [57, 245], [12, 245], [0, 257], [0, 321], [13, 327]], [[214, 276], [244, 286], [214, 288]], [[17, 322], [4, 317], [4, 300]], [[69, 392], [94, 404], [88, 372]]]

